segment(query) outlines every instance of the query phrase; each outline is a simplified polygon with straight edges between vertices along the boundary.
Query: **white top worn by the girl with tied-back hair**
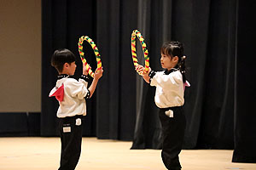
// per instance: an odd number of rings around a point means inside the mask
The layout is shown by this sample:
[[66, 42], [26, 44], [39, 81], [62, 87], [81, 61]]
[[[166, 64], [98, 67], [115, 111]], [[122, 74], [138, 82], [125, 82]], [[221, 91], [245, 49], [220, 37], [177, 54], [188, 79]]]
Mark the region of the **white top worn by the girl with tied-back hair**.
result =
[[165, 71], [155, 72], [150, 85], [156, 87], [154, 102], [159, 108], [181, 106], [184, 104], [183, 76], [180, 71], [169, 75]]

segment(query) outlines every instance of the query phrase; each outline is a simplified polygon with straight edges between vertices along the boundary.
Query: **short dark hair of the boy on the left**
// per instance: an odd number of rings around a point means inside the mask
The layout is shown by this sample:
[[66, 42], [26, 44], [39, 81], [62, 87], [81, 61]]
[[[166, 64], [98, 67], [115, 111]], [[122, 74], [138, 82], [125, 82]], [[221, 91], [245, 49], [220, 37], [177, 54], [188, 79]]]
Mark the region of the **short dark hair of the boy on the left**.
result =
[[68, 49], [57, 49], [51, 57], [51, 65], [59, 72], [63, 71], [65, 63], [71, 64], [75, 61], [75, 55]]

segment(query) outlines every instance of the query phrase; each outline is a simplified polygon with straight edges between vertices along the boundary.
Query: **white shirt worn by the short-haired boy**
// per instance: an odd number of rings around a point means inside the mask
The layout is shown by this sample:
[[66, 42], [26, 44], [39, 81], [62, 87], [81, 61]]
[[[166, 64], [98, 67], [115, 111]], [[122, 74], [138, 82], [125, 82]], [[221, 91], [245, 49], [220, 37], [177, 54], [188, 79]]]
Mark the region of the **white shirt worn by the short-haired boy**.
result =
[[[64, 77], [56, 82], [56, 88], [61, 87], [64, 84], [64, 99], [59, 102], [60, 106], [57, 111], [57, 117], [86, 115], [85, 99], [87, 93], [88, 82], [83, 79], [77, 81], [74, 78]], [[49, 96], [55, 93], [56, 88], [53, 88]]]

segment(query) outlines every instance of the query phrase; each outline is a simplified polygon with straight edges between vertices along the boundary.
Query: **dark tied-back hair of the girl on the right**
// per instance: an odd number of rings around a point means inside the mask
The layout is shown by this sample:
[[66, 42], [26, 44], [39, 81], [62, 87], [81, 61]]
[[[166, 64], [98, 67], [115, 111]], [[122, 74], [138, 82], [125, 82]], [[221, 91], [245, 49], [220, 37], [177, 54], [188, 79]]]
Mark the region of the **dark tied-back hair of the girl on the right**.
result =
[[183, 43], [181, 42], [165, 42], [161, 49], [160, 49], [161, 54], [165, 54], [168, 56], [178, 57], [178, 62], [175, 68], [179, 69], [183, 75], [183, 82], [186, 82], [186, 76], [185, 76], [185, 59], [186, 57], [183, 55]]

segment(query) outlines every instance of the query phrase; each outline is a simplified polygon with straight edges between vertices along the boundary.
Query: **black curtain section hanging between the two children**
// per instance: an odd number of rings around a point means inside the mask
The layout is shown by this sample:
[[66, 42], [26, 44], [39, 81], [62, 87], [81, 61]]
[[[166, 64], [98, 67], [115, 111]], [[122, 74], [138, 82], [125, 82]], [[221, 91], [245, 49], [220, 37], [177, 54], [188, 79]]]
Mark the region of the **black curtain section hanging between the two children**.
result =
[[137, 27], [137, 0], [96, 2], [96, 36], [104, 69], [96, 96], [97, 138], [131, 140], [136, 120], [131, 31]]

